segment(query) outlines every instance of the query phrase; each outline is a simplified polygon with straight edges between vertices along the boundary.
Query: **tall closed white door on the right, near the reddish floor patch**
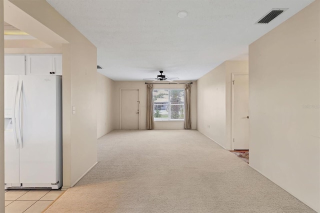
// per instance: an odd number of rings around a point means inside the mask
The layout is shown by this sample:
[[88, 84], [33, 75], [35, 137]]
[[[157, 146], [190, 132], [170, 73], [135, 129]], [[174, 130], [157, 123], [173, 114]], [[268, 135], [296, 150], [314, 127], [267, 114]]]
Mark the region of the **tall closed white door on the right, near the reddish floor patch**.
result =
[[247, 74], [233, 75], [232, 130], [233, 149], [249, 149], [249, 78]]

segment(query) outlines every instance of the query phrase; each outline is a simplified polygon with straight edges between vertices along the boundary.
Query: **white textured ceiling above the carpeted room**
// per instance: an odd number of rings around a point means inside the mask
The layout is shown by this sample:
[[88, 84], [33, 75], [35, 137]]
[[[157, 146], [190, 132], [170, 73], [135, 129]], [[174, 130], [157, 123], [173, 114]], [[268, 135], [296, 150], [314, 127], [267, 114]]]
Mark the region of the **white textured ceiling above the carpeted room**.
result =
[[[47, 0], [97, 47], [99, 72], [113, 80], [195, 80], [313, 0]], [[288, 8], [254, 24], [272, 8]], [[178, 18], [178, 11], [187, 11]]]

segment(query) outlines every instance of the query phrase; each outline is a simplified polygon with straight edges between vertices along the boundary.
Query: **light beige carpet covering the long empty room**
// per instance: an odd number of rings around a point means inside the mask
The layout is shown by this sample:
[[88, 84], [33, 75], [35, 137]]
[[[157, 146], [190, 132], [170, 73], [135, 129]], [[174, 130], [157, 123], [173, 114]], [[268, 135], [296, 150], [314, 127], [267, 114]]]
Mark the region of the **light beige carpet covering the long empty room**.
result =
[[116, 130], [49, 212], [314, 212], [195, 130]]

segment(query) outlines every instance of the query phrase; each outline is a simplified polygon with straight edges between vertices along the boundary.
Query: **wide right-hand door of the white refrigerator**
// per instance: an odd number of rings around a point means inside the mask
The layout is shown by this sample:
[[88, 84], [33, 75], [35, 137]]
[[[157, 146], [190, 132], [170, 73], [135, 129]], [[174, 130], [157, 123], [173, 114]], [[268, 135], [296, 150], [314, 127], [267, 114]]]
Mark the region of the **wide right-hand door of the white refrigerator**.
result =
[[23, 75], [21, 98], [20, 182], [58, 181], [57, 76]]

